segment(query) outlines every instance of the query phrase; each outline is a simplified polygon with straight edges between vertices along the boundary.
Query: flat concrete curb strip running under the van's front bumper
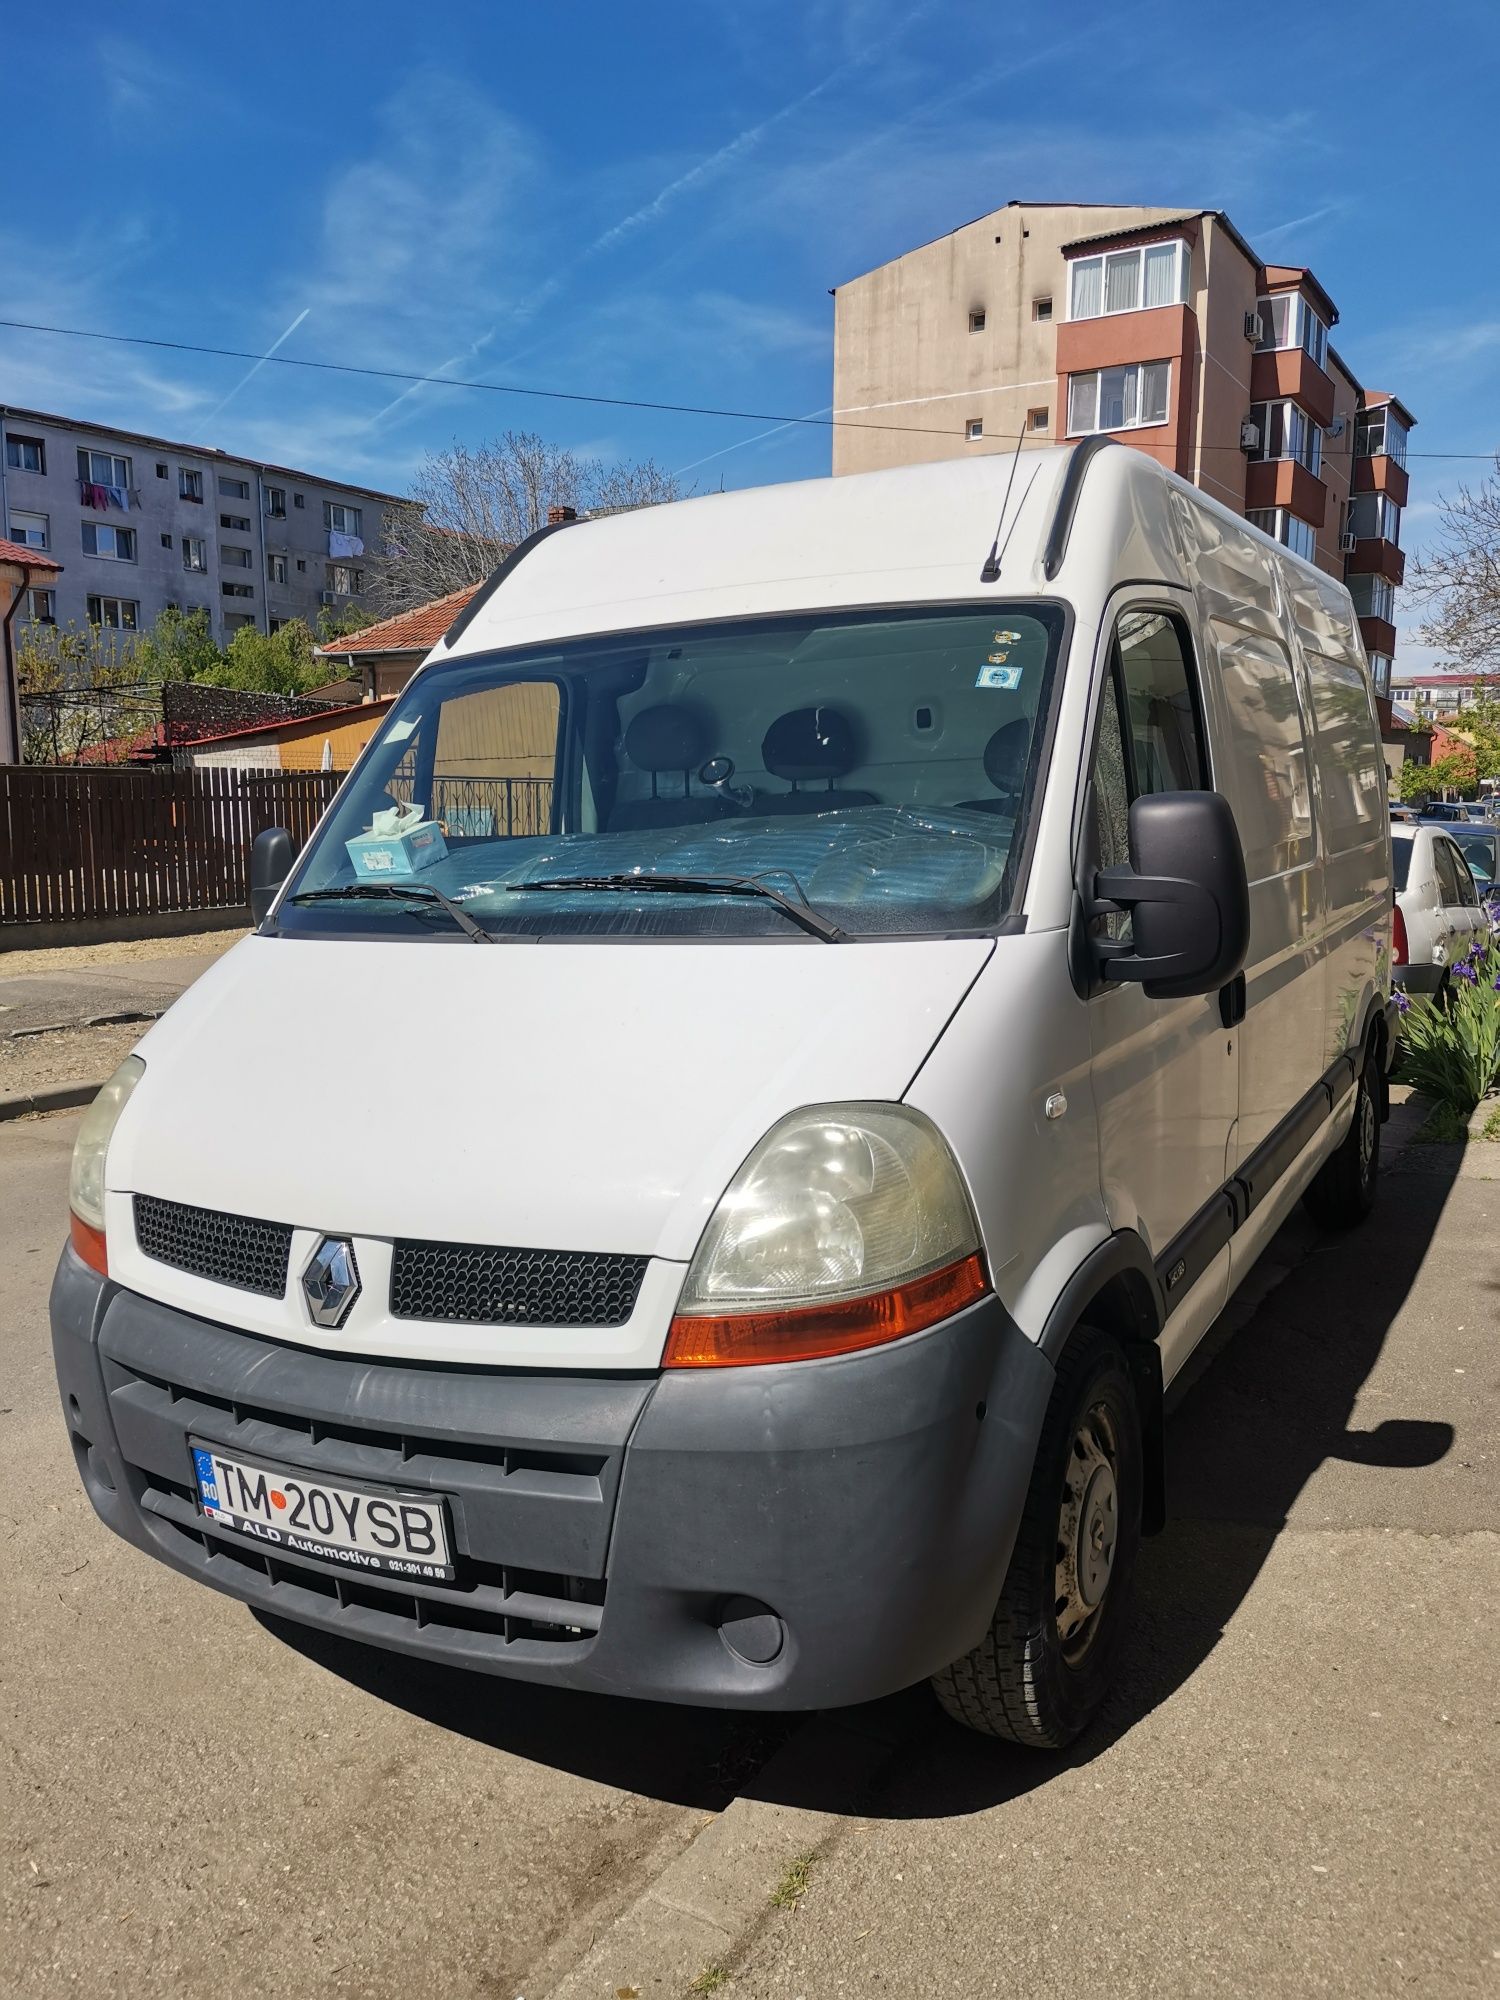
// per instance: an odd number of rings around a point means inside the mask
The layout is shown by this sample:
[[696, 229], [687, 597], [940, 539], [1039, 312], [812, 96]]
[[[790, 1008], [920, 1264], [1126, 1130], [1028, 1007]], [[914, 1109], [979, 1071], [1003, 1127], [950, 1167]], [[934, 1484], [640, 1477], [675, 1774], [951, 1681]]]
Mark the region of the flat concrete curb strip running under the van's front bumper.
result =
[[[712, 1968], [728, 1970], [772, 1916], [772, 1892], [792, 1862], [812, 1860], [848, 1826], [902, 1750], [860, 1710], [816, 1716], [796, 1730], [656, 1880], [620, 1912], [602, 1938], [546, 1988], [546, 2000], [678, 2000]], [[844, 1810], [780, 1804], [786, 1796], [832, 1796]], [[766, 1796], [770, 1794], [770, 1796]]]

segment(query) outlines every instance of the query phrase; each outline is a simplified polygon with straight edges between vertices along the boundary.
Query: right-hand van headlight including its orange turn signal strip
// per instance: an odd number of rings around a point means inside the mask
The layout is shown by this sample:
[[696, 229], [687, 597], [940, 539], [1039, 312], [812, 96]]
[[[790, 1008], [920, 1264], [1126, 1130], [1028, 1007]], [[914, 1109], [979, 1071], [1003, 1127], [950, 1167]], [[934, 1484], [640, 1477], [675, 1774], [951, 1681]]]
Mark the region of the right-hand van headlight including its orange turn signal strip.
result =
[[792, 1112], [708, 1220], [666, 1368], [848, 1354], [988, 1292], [974, 1210], [936, 1128], [904, 1104]]

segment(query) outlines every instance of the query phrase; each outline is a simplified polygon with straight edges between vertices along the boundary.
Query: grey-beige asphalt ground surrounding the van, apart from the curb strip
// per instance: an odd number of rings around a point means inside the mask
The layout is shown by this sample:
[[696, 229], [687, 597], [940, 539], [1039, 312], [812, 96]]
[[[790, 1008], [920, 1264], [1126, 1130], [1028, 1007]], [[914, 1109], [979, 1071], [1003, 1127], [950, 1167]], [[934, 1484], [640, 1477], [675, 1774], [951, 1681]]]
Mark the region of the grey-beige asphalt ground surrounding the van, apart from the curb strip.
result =
[[[0, 1128], [0, 1992], [542, 2000], [778, 1726], [314, 1642], [116, 1542], [46, 1346], [74, 1130]], [[1102, 1726], [882, 1704], [892, 1776], [808, 1780], [840, 1832], [730, 1996], [1496, 1990], [1500, 1180], [1402, 1164], [1180, 1400]]]

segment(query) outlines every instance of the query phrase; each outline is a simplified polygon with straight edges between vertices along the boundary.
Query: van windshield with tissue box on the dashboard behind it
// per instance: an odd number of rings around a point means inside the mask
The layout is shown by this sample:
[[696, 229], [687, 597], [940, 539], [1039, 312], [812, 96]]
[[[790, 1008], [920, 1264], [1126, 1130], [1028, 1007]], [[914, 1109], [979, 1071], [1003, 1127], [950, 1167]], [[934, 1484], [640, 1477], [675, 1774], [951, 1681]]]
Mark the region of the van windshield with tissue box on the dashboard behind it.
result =
[[984, 930], [1012, 904], [1062, 630], [1038, 602], [822, 612], [426, 668], [276, 928], [462, 938], [446, 900], [496, 938]]

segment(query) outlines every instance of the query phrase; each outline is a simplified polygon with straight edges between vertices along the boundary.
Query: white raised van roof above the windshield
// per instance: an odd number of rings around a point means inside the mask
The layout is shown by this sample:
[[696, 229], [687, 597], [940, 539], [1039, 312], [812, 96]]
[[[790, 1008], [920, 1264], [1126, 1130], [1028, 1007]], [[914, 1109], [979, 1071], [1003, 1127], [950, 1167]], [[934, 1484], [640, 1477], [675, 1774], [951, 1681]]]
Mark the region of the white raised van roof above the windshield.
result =
[[[1104, 446], [1102, 450], [1096, 446]], [[1064, 492], [1070, 464], [1076, 514]], [[1084, 470], [1086, 468], [1086, 470]], [[1182, 580], [1174, 536], [1130, 534], [1162, 518], [1164, 488], [1238, 536], [1266, 538], [1154, 458], [1108, 440], [986, 452], [964, 460], [750, 486], [580, 520], [522, 544], [430, 662], [596, 632], [752, 618], [796, 610], [996, 602], [1074, 594], [1130, 540], [1136, 578]], [[1044, 568], [1054, 524], [1072, 514], [1056, 586]], [[1000, 578], [980, 578], [998, 544]], [[1278, 550], [1294, 570], [1308, 564]], [[1312, 572], [1328, 584], [1322, 572]], [[1104, 584], [1108, 588], [1108, 582]]]

